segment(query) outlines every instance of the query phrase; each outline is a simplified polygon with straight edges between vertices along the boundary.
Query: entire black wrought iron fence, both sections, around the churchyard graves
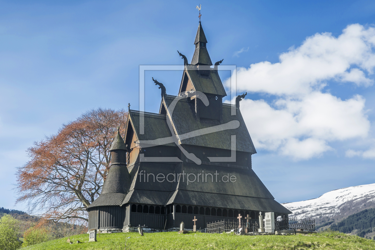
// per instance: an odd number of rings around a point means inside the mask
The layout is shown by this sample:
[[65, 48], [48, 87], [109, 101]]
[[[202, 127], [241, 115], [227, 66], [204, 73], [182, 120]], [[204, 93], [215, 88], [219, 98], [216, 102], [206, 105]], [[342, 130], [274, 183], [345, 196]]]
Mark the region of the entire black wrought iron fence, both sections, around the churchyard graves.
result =
[[[207, 223], [207, 230], [205, 232], [210, 234], [220, 234], [222, 232], [238, 232], [239, 228], [243, 228], [242, 232], [258, 232], [259, 223], [256, 220], [241, 220], [239, 222], [220, 221]], [[263, 222], [263, 228], [265, 228]], [[278, 230], [297, 230], [297, 231], [315, 231], [315, 220], [293, 219], [293, 218], [280, 218], [275, 220], [275, 231]]]

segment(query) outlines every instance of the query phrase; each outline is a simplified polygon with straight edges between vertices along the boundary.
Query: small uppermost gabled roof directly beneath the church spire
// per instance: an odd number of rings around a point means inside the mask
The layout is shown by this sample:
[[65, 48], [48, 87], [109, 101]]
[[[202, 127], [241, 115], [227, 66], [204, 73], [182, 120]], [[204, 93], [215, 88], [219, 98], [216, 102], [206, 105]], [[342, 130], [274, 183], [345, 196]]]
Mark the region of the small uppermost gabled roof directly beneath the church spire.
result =
[[189, 65], [186, 66], [185, 72], [187, 73], [187, 76], [192, 82], [196, 91], [201, 91], [202, 93], [207, 94], [226, 96], [223, 83], [221, 82], [220, 76], [216, 70], [209, 69], [209, 76], [202, 77], [199, 75], [197, 66]]

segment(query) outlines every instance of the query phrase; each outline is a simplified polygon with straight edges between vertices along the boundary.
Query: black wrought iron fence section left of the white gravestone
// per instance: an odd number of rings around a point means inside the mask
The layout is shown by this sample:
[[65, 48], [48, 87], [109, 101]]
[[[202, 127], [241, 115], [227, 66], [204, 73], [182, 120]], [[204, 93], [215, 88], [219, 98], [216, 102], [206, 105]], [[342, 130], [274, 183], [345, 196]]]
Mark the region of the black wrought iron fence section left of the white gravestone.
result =
[[243, 232], [255, 232], [258, 231], [259, 225], [255, 220], [251, 220], [247, 222], [247, 220], [241, 220], [241, 224], [239, 222], [230, 222], [230, 221], [221, 221], [221, 222], [213, 222], [207, 223], [207, 233], [210, 234], [221, 234], [223, 232], [238, 232], [239, 228], [243, 229]]

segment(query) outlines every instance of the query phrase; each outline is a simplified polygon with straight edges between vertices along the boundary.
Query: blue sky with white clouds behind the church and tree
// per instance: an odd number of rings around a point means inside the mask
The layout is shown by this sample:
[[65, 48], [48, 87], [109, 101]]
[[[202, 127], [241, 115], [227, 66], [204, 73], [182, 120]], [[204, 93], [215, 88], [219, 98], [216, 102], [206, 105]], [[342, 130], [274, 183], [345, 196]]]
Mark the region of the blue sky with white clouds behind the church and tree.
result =
[[[211, 60], [241, 69], [253, 169], [276, 201], [375, 183], [375, 2], [200, 3]], [[0, 1], [0, 206], [26, 210], [12, 184], [34, 141], [92, 108], [137, 109], [139, 65], [191, 60], [197, 4]], [[181, 73], [146, 73], [146, 111], [147, 79], [177, 94]]]

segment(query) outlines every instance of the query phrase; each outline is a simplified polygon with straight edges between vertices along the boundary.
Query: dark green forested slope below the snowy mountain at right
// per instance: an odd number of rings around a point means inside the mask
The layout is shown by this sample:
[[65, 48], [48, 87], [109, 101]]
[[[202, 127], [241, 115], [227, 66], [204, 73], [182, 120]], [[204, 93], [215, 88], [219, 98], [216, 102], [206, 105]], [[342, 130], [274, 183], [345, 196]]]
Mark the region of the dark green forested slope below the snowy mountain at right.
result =
[[375, 229], [375, 208], [365, 209], [352, 214], [341, 222], [333, 223], [330, 229], [345, 234], [351, 233], [357, 229], [357, 235], [365, 237], [366, 234], [373, 232]]

